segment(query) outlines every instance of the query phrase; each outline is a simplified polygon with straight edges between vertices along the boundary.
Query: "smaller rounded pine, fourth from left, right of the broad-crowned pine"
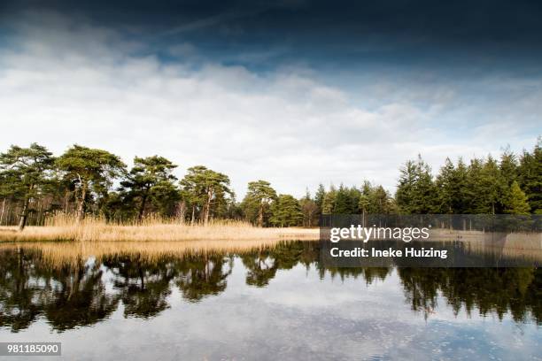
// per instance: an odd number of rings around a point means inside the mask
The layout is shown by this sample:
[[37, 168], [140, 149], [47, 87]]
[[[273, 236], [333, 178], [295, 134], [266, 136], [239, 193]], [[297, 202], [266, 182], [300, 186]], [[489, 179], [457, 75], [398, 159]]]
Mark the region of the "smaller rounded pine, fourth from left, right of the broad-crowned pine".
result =
[[188, 169], [188, 173], [181, 180], [183, 190], [190, 196], [193, 204], [192, 221], [196, 205], [201, 206], [200, 219], [206, 225], [214, 205], [225, 201], [225, 196], [234, 196], [229, 189], [229, 178], [226, 174], [214, 172], [203, 165], [196, 165]]

